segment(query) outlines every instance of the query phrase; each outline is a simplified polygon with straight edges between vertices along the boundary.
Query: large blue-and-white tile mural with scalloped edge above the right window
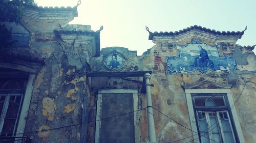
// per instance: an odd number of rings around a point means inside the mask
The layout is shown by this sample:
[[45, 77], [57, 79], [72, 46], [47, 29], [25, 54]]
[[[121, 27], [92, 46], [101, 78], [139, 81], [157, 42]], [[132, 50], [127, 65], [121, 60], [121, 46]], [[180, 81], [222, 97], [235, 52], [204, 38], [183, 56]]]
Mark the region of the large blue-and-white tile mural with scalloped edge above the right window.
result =
[[176, 45], [178, 56], [166, 56], [166, 74], [194, 72], [199, 70], [205, 74], [208, 70], [214, 72], [230, 72], [237, 68], [233, 56], [220, 56], [219, 45], [209, 46], [206, 43], [187, 43]]

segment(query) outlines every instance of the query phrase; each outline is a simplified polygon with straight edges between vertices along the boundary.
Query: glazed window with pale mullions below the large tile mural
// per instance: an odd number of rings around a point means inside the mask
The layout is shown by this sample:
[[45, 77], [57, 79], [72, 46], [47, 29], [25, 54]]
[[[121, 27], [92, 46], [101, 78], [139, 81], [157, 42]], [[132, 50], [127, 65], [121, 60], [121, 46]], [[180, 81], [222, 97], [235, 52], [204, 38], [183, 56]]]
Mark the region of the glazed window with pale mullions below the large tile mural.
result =
[[191, 94], [201, 142], [235, 143], [226, 94]]

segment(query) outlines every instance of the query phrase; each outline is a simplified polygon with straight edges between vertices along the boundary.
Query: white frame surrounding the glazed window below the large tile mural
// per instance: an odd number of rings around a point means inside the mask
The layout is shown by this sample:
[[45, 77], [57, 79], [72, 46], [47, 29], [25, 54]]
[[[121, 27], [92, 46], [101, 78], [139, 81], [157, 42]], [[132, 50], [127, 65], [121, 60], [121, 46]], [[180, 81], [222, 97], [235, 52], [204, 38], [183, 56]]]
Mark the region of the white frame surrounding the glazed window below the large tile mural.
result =
[[[193, 106], [193, 99], [191, 94], [215, 94], [215, 93], [225, 93], [227, 94], [227, 99], [229, 106], [231, 107], [234, 104], [232, 93], [230, 89], [185, 89], [186, 93], [186, 101], [187, 101], [187, 107], [188, 107], [188, 113], [189, 113], [189, 119], [191, 124], [191, 130], [197, 131], [197, 123], [196, 123], [196, 117], [194, 112], [194, 106]], [[231, 113], [233, 116], [234, 125], [237, 129], [238, 138], [241, 143], [245, 143], [244, 136], [242, 133], [242, 129], [240, 126], [240, 122], [237, 115], [236, 108], [231, 109]], [[200, 143], [199, 136], [196, 132], [193, 132], [193, 138], [195, 143]]]

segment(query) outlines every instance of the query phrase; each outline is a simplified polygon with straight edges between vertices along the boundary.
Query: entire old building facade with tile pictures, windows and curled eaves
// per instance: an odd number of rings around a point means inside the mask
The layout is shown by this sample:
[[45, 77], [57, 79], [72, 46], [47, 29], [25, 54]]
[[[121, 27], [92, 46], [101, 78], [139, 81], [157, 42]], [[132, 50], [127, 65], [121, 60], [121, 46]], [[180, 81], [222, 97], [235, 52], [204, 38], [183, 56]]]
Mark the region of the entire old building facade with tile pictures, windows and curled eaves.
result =
[[0, 53], [2, 142], [256, 140], [254, 46], [236, 44], [244, 31], [146, 27], [155, 46], [137, 56], [100, 49], [103, 27], [69, 25], [76, 16], [77, 6], [31, 6], [19, 25], [4, 22], [16, 42]]

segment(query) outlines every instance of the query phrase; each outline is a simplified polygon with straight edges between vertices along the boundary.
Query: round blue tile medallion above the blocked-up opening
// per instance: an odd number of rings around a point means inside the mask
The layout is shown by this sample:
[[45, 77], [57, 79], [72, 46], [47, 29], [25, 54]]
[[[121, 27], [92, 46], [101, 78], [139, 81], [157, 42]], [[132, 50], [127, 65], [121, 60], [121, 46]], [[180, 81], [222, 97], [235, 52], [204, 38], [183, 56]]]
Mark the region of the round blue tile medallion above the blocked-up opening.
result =
[[111, 53], [104, 59], [103, 66], [107, 70], [121, 70], [126, 66], [126, 60], [120, 53]]

